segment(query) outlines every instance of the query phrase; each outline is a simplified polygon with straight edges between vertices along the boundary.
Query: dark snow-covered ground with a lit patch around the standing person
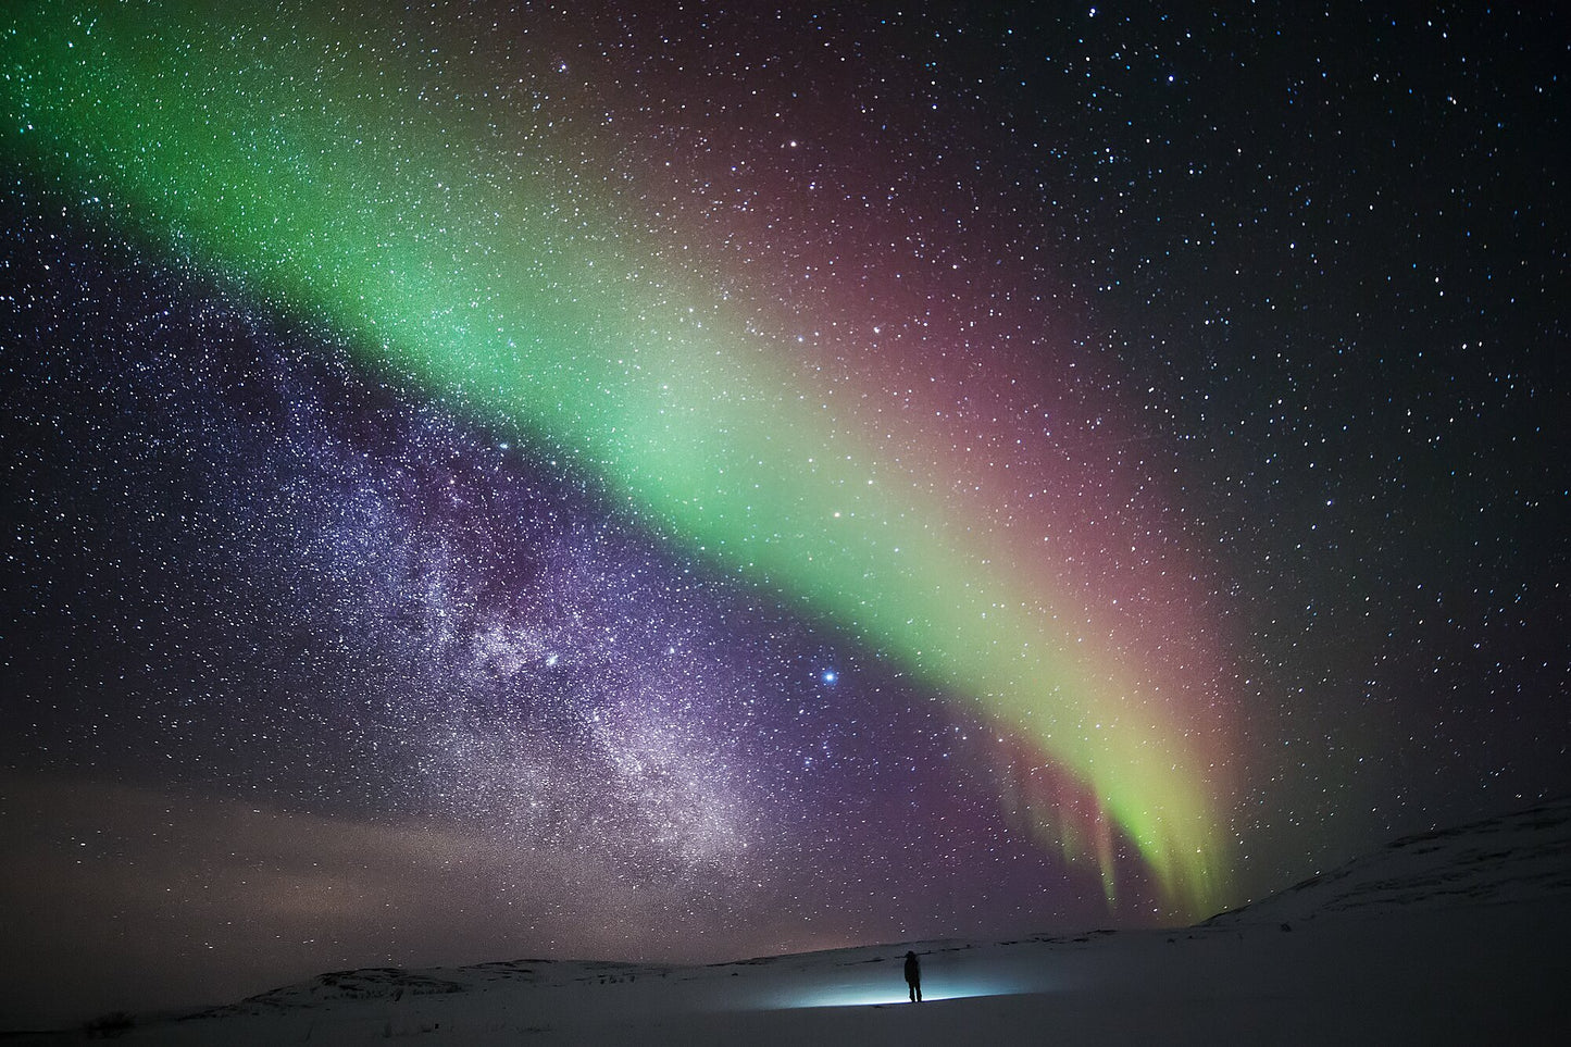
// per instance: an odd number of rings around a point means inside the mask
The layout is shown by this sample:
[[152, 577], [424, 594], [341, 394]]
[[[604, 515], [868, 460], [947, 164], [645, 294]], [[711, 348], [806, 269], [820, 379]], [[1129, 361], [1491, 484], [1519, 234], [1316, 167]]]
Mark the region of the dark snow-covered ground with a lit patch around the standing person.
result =
[[[1568, 940], [1571, 800], [1397, 841], [1189, 929], [360, 970], [140, 1020], [123, 1042], [1558, 1044]], [[906, 948], [922, 1005], [905, 1001]]]

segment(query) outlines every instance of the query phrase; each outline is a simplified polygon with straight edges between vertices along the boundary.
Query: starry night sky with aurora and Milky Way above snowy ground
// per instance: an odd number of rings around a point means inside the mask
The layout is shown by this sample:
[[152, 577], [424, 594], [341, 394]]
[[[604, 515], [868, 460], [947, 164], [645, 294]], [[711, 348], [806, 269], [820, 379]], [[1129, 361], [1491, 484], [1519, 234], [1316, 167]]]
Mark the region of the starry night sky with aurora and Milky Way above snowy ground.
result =
[[207, 6], [0, 16], [0, 1025], [1571, 789], [1552, 5]]

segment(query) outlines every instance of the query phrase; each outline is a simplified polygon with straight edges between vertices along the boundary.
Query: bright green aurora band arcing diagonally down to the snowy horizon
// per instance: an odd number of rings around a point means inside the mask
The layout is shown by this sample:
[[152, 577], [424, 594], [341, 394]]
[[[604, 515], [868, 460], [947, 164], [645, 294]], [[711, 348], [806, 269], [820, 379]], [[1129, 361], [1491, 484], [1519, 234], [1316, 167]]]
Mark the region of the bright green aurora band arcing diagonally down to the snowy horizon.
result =
[[1015, 538], [949, 494], [958, 461], [831, 410], [855, 398], [811, 385], [795, 346], [643, 250], [633, 204], [584, 174], [603, 157], [564, 160], [559, 132], [512, 112], [504, 130], [481, 104], [435, 113], [415, 58], [363, 28], [220, 17], [14, 8], [5, 149], [884, 651], [996, 733], [1002, 802], [1095, 860], [1109, 901], [1114, 832], [1174, 913], [1229, 899], [1214, 695], [1092, 640], [1084, 596], [1051, 564], [1021, 568], [1040, 546], [1007, 552]]

